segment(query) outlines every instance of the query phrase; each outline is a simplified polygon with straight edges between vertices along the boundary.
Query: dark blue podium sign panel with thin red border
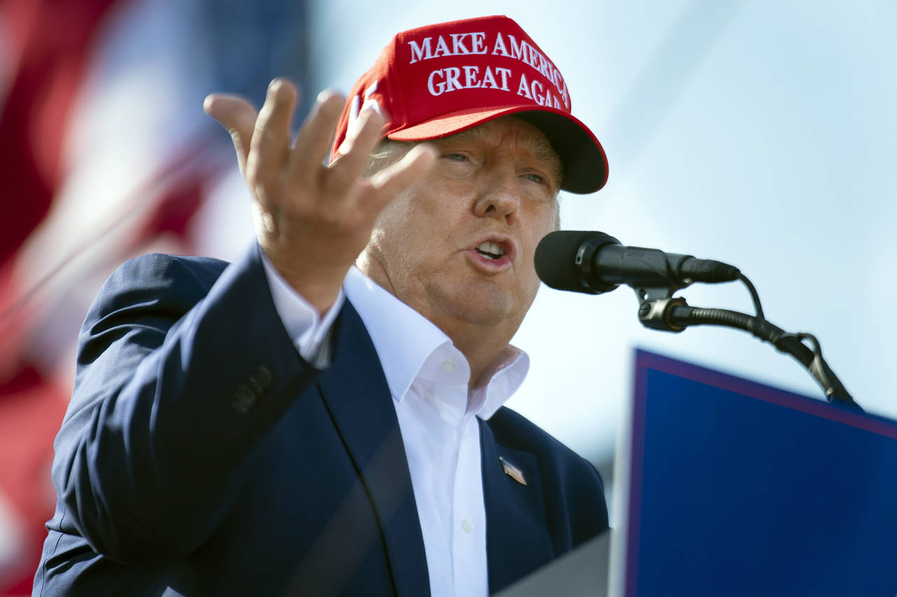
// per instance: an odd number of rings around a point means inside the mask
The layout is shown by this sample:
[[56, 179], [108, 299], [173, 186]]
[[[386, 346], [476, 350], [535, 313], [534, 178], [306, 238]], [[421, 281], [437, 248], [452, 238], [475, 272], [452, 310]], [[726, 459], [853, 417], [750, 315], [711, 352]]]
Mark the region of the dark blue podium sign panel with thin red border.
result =
[[897, 423], [636, 354], [624, 593], [897, 595]]

